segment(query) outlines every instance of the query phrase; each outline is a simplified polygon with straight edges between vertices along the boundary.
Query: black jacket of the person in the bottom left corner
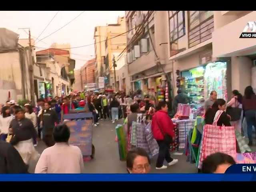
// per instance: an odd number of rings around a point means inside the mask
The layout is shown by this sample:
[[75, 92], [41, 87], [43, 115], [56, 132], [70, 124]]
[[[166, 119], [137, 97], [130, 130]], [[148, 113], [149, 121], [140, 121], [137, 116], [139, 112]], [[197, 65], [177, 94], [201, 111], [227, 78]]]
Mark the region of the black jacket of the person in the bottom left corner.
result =
[[5, 173], [28, 173], [28, 169], [14, 146], [0, 140], [0, 174]]

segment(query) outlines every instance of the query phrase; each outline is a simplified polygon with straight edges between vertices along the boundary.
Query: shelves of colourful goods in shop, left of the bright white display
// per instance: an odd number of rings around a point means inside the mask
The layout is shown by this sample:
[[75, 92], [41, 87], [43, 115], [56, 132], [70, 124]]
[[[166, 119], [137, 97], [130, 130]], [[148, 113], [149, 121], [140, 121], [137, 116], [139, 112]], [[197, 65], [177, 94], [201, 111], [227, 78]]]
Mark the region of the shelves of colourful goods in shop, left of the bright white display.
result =
[[181, 72], [180, 88], [187, 94], [192, 108], [200, 108], [204, 104], [205, 67], [193, 68]]

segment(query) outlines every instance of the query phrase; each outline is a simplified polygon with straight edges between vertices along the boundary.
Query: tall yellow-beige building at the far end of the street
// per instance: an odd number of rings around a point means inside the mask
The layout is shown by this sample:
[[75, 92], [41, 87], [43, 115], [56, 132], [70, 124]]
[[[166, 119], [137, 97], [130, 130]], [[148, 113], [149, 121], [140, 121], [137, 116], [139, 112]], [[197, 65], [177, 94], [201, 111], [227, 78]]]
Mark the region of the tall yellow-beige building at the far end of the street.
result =
[[97, 86], [98, 78], [104, 76], [105, 88], [114, 88], [114, 68], [112, 62], [114, 57], [117, 58], [126, 47], [126, 34], [120, 35], [124, 32], [126, 32], [124, 17], [118, 17], [116, 24], [95, 27], [94, 49], [96, 56], [95, 78]]

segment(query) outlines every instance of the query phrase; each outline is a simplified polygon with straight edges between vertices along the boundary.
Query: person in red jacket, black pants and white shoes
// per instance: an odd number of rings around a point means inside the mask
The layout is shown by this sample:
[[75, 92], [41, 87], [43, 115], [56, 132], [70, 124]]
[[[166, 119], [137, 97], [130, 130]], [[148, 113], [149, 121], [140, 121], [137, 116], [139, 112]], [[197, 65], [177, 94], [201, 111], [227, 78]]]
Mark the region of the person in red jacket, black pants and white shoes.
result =
[[178, 162], [178, 159], [173, 159], [170, 156], [169, 148], [170, 144], [164, 141], [164, 135], [168, 134], [175, 140], [175, 134], [173, 130], [173, 122], [168, 116], [168, 106], [165, 101], [158, 103], [158, 111], [154, 114], [152, 118], [152, 132], [159, 146], [158, 158], [156, 161], [156, 169], [166, 169], [164, 159], [171, 166]]

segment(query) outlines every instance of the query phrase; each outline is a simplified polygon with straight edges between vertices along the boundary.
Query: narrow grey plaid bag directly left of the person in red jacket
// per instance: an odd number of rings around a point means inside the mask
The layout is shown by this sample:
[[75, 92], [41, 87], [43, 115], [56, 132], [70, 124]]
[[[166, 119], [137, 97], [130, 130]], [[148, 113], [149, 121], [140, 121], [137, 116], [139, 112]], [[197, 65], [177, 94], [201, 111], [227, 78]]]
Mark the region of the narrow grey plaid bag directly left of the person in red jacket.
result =
[[150, 151], [149, 156], [150, 156], [150, 158], [152, 158], [153, 156], [158, 154], [159, 146], [158, 146], [156, 140], [153, 137], [152, 129], [151, 129], [151, 123], [149, 123], [145, 127], [145, 136], [146, 136], [146, 140], [147, 140], [147, 143], [148, 143], [148, 148], [149, 148], [149, 151]]

